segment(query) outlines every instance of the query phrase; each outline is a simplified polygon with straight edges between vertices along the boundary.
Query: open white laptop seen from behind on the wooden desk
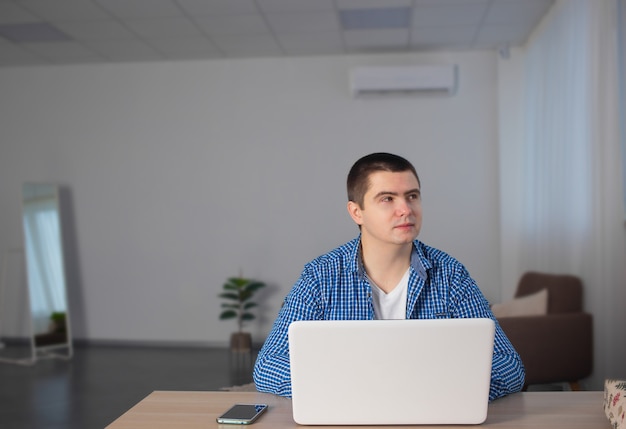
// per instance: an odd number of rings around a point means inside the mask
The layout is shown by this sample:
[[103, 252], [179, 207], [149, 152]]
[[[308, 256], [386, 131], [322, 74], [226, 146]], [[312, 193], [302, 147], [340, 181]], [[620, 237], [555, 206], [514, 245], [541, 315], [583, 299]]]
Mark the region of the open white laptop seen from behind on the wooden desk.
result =
[[482, 423], [494, 332], [490, 319], [294, 322], [293, 419], [303, 425]]

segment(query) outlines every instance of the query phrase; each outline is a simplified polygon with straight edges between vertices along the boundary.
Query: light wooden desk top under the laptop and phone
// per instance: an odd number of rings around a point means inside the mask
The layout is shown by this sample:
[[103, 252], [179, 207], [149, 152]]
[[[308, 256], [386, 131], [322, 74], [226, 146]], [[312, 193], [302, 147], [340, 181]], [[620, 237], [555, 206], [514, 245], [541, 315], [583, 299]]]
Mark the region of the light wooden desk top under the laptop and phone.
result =
[[[279, 396], [255, 392], [156, 391], [114, 421], [107, 429], [234, 429], [241, 426], [218, 425], [216, 417], [235, 403], [257, 402], [269, 404], [270, 408], [250, 426], [251, 429], [305, 427], [293, 421], [291, 400]], [[487, 421], [479, 427], [609, 429], [609, 421], [604, 415], [602, 403], [603, 392], [516, 393], [490, 404]], [[389, 426], [355, 426], [358, 429], [381, 427]], [[401, 426], [403, 429], [407, 427]], [[458, 429], [463, 426], [418, 427]]]

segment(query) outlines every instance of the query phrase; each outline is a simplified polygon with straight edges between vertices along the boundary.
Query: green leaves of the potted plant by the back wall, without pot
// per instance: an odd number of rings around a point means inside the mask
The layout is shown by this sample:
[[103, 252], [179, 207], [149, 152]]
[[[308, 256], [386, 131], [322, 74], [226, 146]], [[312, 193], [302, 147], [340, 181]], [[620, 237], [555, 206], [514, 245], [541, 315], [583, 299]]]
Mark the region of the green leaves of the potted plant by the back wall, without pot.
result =
[[242, 332], [244, 322], [256, 317], [249, 311], [257, 306], [251, 299], [254, 293], [262, 287], [265, 287], [265, 283], [257, 280], [243, 277], [229, 278], [222, 286], [224, 292], [220, 294], [220, 298], [227, 300], [227, 302], [222, 303], [223, 310], [220, 314], [220, 320], [236, 318], [239, 332]]

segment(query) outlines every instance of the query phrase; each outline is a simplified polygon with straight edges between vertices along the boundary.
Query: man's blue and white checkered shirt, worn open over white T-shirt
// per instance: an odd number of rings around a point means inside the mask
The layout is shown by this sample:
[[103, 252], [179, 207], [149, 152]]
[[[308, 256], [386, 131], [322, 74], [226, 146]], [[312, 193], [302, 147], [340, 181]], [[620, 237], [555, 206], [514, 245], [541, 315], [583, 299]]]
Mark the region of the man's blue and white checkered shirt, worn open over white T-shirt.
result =
[[[254, 366], [257, 390], [291, 396], [287, 330], [295, 320], [372, 320], [371, 286], [360, 262], [360, 238], [308, 263], [285, 298]], [[487, 317], [496, 321], [465, 267], [415, 240], [407, 293], [407, 319]], [[463, 363], [459, 360], [459, 365]], [[522, 361], [496, 321], [489, 400], [524, 385]]]

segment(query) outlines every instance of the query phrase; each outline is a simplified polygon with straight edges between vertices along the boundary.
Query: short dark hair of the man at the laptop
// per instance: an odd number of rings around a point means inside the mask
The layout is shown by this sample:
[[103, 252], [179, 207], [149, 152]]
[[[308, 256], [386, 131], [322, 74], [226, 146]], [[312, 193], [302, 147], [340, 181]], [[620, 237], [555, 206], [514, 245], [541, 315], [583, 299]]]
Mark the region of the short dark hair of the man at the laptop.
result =
[[415, 167], [406, 159], [391, 153], [372, 153], [359, 159], [350, 169], [347, 180], [348, 201], [357, 203], [359, 207], [363, 208], [365, 193], [370, 187], [369, 177], [376, 171], [390, 171], [392, 173], [410, 171], [415, 175], [417, 183], [420, 184]]

